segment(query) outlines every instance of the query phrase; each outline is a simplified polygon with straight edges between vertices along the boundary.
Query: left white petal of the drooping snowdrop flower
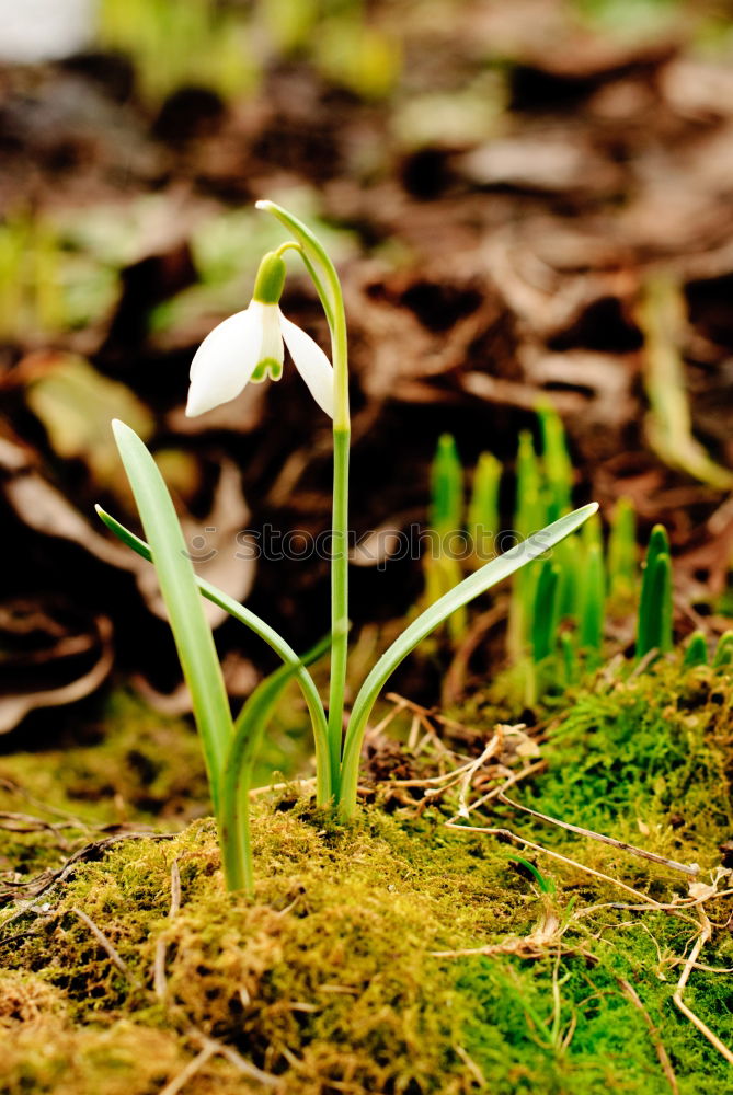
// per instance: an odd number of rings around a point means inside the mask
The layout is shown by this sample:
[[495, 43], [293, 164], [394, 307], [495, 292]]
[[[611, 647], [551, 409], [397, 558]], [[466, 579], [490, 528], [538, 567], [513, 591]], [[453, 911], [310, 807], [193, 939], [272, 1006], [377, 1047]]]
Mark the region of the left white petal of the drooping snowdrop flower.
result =
[[196, 350], [186, 404], [190, 418], [233, 400], [254, 372], [262, 343], [262, 306], [255, 303], [219, 323]]

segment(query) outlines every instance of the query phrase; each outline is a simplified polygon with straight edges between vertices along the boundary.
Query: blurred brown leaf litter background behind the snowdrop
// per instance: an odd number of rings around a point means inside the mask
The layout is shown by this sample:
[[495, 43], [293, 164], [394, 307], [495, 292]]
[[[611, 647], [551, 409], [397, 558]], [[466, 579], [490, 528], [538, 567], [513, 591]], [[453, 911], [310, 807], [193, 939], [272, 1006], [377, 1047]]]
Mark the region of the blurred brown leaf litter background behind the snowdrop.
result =
[[[644, 544], [664, 523], [691, 606], [676, 634], [701, 621], [711, 645], [724, 634], [733, 3], [42, 9], [0, 0], [4, 729], [27, 735], [37, 719], [42, 737], [56, 734], [56, 713], [68, 703], [76, 717], [85, 696], [96, 717], [101, 681], [186, 712], [154, 584], [93, 522], [98, 500], [135, 520], [113, 416], [156, 451], [203, 574], [299, 648], [328, 625], [323, 561], [244, 562], [237, 541], [267, 523], [328, 526], [328, 423], [298, 378], [286, 370], [204, 420], [183, 416], [196, 345], [247, 304], [259, 256], [280, 240], [253, 209], [265, 194], [308, 219], [343, 273], [356, 532], [383, 545], [428, 520], [447, 433], [465, 466], [488, 452], [501, 464], [500, 488], [483, 458], [508, 525], [516, 438], [541, 451], [536, 411], [551, 405], [574, 500], [597, 497], [610, 515], [629, 499]], [[284, 307], [324, 338], [295, 263]], [[415, 560], [355, 556], [357, 662], [423, 581]], [[460, 681], [484, 681], [505, 664], [499, 615], [481, 642], [471, 621], [454, 621], [398, 684], [433, 702], [459, 655]], [[214, 622], [229, 688], [244, 695], [268, 655]], [[282, 716], [287, 765], [301, 726], [294, 703]]]

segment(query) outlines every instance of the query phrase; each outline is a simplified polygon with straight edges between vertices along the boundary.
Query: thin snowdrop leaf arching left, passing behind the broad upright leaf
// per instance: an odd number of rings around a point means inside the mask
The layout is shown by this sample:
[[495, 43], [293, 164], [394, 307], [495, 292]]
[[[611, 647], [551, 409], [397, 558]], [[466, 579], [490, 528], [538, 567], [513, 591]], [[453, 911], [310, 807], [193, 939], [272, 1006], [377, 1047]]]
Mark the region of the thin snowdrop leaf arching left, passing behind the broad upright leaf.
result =
[[[104, 521], [106, 527], [111, 532], [122, 540], [124, 544], [131, 548], [134, 552], [142, 558], [152, 561], [152, 555], [150, 553], [150, 548], [145, 542], [136, 537], [134, 532], [126, 529], [124, 525], [115, 520], [110, 514], [107, 514], [101, 506], [96, 506], [96, 512]], [[313, 727], [313, 739], [316, 745], [316, 769], [318, 772], [318, 804], [319, 806], [325, 806], [329, 798], [331, 797], [331, 776], [328, 764], [328, 727], [325, 722], [325, 712], [323, 711], [323, 703], [319, 695], [318, 689], [316, 688], [316, 682], [310, 676], [308, 670], [302, 665], [300, 658], [286, 641], [277, 634], [277, 632], [265, 623], [256, 613], [252, 612], [250, 609], [240, 604], [236, 601], [233, 597], [225, 593], [224, 590], [217, 589], [213, 586], [210, 581], [206, 581], [205, 578], [199, 578], [197, 574], [194, 574], [196, 579], [196, 585], [203, 596], [211, 601], [213, 604], [217, 604], [229, 615], [233, 616], [234, 620], [239, 620], [243, 623], [245, 627], [254, 632], [267, 646], [278, 655], [278, 657], [287, 666], [293, 666], [295, 670], [295, 677], [300, 685], [306, 704], [308, 705], [308, 713], [310, 715], [311, 725]]]

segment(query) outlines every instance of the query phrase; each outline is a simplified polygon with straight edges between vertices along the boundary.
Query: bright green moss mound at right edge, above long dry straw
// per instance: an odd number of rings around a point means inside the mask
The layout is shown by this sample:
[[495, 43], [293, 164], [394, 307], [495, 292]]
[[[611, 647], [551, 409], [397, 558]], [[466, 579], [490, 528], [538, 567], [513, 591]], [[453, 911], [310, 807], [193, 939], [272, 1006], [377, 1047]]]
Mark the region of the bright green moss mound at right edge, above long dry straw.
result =
[[732, 706], [729, 676], [706, 666], [600, 677], [550, 728], [537, 808], [714, 865], [733, 834]]

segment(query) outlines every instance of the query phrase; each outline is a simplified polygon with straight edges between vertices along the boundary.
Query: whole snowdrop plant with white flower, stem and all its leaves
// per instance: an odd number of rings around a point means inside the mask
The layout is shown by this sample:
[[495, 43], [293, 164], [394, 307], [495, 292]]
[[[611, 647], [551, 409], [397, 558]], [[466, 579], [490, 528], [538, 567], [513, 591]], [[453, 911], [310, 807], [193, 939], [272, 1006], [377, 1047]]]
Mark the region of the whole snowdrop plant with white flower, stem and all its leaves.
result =
[[[367, 723], [391, 673], [424, 638], [460, 612], [469, 601], [551, 551], [597, 509], [593, 504], [574, 512], [558, 515], [558, 519], [547, 528], [483, 563], [453, 588], [446, 589], [409, 623], [379, 657], [347, 712], [351, 419], [343, 295], [335, 267], [310, 229], [272, 201], [260, 201], [257, 208], [273, 214], [287, 230], [289, 239], [277, 251], [263, 257], [249, 308], [225, 320], [199, 348], [192, 366], [187, 413], [205, 413], [218, 403], [234, 399], [244, 383], [264, 381], [267, 373], [277, 379], [282, 374], [285, 339], [316, 402], [333, 419], [331, 634], [316, 649], [299, 657], [263, 619], [195, 574], [171, 496], [158, 466], [142, 440], [121, 422], [113, 424], [115, 439], [146, 540], [125, 529], [108, 514], [98, 510], [121, 540], [156, 566], [202, 738], [227, 885], [232, 890], [243, 889], [248, 894], [253, 888], [249, 822], [253, 764], [267, 721], [285, 684], [291, 679], [298, 683], [310, 716], [316, 752], [317, 802], [322, 807], [332, 806], [347, 822], [357, 808], [357, 777]], [[313, 283], [331, 334], [331, 362], [312, 339], [279, 311], [286, 278], [283, 257], [286, 252], [302, 262]], [[239, 345], [242, 334], [247, 334], [250, 343], [255, 339], [254, 347]], [[247, 365], [238, 380], [243, 361]], [[309, 410], [308, 413], [313, 412]], [[230, 711], [202, 597], [214, 601], [259, 635], [283, 662], [257, 685], [236, 718]], [[307, 668], [310, 661], [324, 653], [330, 654], [327, 703]]]

